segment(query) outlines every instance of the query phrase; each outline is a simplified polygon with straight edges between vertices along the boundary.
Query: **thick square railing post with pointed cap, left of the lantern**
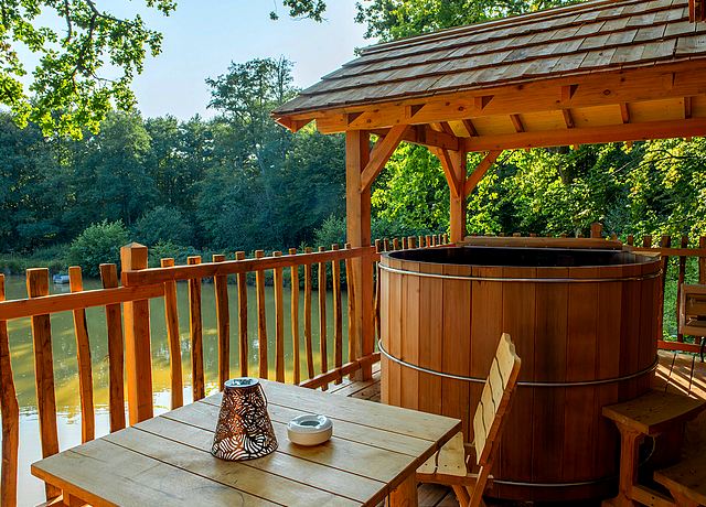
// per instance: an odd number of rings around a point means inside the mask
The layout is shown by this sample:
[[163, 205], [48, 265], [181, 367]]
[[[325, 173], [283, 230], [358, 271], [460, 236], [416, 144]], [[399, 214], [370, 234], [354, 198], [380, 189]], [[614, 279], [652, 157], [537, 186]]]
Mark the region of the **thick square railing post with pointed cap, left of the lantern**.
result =
[[[147, 247], [132, 242], [120, 248], [120, 269], [147, 269]], [[130, 424], [153, 417], [152, 352], [150, 349], [150, 302], [125, 303], [125, 364]]]

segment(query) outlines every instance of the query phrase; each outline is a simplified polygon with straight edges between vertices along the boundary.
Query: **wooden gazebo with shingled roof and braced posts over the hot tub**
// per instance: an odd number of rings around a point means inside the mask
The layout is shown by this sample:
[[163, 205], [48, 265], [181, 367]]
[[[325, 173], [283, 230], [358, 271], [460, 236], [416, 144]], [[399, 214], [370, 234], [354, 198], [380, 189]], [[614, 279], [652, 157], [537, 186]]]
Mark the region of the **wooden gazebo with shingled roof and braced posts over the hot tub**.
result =
[[[459, 241], [466, 199], [502, 150], [706, 134], [704, 4], [601, 0], [374, 45], [272, 116], [345, 132], [352, 246], [371, 244], [371, 185], [402, 141], [441, 161]], [[469, 152], [485, 153], [470, 172]], [[354, 279], [364, 354], [372, 263]]]

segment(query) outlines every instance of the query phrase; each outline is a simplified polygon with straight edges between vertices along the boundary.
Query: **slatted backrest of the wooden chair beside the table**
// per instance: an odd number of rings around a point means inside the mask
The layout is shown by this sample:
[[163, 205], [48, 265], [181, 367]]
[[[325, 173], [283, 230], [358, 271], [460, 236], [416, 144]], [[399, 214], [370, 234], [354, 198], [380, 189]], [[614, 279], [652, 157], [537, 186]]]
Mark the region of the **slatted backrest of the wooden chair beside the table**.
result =
[[491, 460], [496, 436], [517, 384], [520, 365], [521, 360], [510, 335], [503, 333], [483, 386], [481, 401], [473, 416], [475, 456], [479, 465], [486, 465]]

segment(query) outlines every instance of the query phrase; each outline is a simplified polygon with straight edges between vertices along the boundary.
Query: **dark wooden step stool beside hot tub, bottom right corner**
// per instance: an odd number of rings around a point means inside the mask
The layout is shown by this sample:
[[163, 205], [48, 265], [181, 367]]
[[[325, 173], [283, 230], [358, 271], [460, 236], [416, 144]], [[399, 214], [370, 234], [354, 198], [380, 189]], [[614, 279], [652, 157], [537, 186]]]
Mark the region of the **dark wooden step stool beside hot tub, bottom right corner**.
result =
[[654, 390], [624, 403], [603, 407], [603, 416], [613, 420], [621, 439], [618, 496], [603, 505], [633, 506], [635, 501], [650, 506], [681, 505], [638, 484], [638, 452], [645, 436], [655, 438], [672, 430], [683, 434], [684, 424], [704, 409], [704, 400]]

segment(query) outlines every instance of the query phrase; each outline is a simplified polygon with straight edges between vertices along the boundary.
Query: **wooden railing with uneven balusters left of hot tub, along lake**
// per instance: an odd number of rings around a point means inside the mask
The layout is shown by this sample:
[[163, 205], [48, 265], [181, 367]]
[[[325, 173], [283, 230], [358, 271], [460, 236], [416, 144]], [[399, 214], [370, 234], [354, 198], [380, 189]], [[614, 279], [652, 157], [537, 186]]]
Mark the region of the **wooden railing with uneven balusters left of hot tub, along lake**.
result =
[[[125, 386], [129, 422], [133, 424], [153, 414], [152, 365], [150, 349], [149, 301], [162, 298], [164, 302], [164, 321], [167, 343], [170, 357], [171, 408], [183, 404], [182, 350], [180, 346], [179, 314], [176, 305], [176, 282], [185, 281], [189, 288], [189, 339], [191, 352], [191, 378], [193, 399], [205, 396], [203, 326], [202, 326], [202, 280], [213, 279], [215, 291], [218, 385], [234, 376], [254, 375], [268, 378], [268, 346], [275, 346], [275, 379], [285, 381], [285, 341], [291, 339], [292, 380], [303, 387], [325, 389], [330, 382], [341, 382], [345, 376], [364, 377], [370, 365], [379, 360], [379, 353], [374, 346], [375, 339], [363, 339], [374, 335], [374, 324], [378, 319], [362, 319], [357, 314], [356, 294], [361, 288], [354, 283], [355, 261], [376, 263], [379, 251], [393, 247], [439, 246], [446, 242], [440, 236], [424, 238], [395, 239], [376, 241], [375, 247], [341, 249], [334, 245], [330, 250], [319, 248], [318, 251], [307, 248], [304, 252], [290, 249], [287, 255], [279, 251], [271, 256], [258, 250], [255, 257], [246, 259], [245, 252], [236, 252], [234, 260], [226, 260], [223, 255], [213, 256], [212, 262], [202, 262], [197, 256], [190, 257], [185, 266], [174, 266], [173, 259], [161, 259], [160, 268], [148, 269], [148, 249], [132, 244], [121, 249], [120, 281], [116, 265], [101, 265], [100, 278], [103, 289], [84, 291], [81, 268], [69, 268], [69, 293], [49, 293], [50, 273], [45, 268], [26, 271], [28, 298], [6, 301], [4, 277], [0, 274], [0, 412], [2, 416], [2, 472], [0, 504], [17, 504], [18, 451], [19, 451], [19, 407], [15, 384], [10, 363], [10, 344], [8, 321], [31, 319], [32, 341], [34, 349], [35, 388], [38, 396], [38, 416], [42, 455], [50, 456], [58, 452], [57, 413], [54, 388], [54, 359], [52, 352], [52, 331], [50, 319], [60, 312], [73, 312], [74, 333], [76, 337], [76, 360], [78, 370], [78, 401], [81, 404], [82, 441], [95, 438], [95, 413], [93, 397], [93, 373], [90, 358], [90, 338], [86, 324], [86, 309], [101, 306], [105, 309], [108, 341], [108, 411], [110, 432], [126, 427]], [[343, 266], [342, 266], [343, 265]], [[300, 272], [300, 267], [303, 269]], [[318, 268], [317, 280], [313, 278]], [[330, 277], [328, 269], [330, 267]], [[357, 268], [360, 269], [360, 268]], [[289, 309], [284, 306], [285, 272], [289, 271]], [[268, 328], [265, 305], [266, 272], [272, 273], [272, 292], [275, 299], [275, 327]], [[373, 270], [375, 272], [375, 270]], [[255, 273], [257, 308], [256, 322], [248, 322], [247, 276]], [[228, 300], [228, 278], [237, 284], [237, 347], [239, 350], [237, 365], [231, 365], [231, 301]], [[303, 280], [302, 280], [303, 278]], [[365, 281], [375, 285], [373, 279]], [[300, 283], [303, 284], [303, 301], [300, 301]], [[312, 322], [314, 283], [318, 284], [319, 322]], [[333, 316], [333, 364], [329, 364], [328, 326], [327, 326], [327, 291], [332, 291]], [[343, 308], [342, 291], [347, 292], [347, 304]], [[377, 291], [374, 311], [377, 312]], [[300, 305], [303, 306], [303, 323], [300, 322]], [[285, 330], [285, 314], [289, 312], [291, 327]], [[344, 350], [343, 320], [346, 319], [347, 349]], [[371, 323], [366, 328], [365, 323]], [[257, 327], [258, 364], [248, 364], [248, 328]], [[318, 327], [318, 330], [317, 330]], [[317, 332], [318, 331], [318, 332]], [[289, 334], [289, 336], [287, 336]], [[300, 345], [303, 338], [304, 358], [300, 362]], [[318, 339], [318, 344], [315, 341]], [[314, 346], [320, 354], [319, 371], [314, 364]], [[125, 349], [125, 354], [124, 354]], [[301, 370], [300, 364], [306, 368]], [[124, 378], [124, 371], [127, 378]], [[126, 381], [127, 380], [127, 381]], [[29, 471], [22, 471], [28, 473]], [[61, 494], [47, 486], [47, 499]]]

